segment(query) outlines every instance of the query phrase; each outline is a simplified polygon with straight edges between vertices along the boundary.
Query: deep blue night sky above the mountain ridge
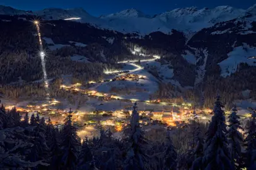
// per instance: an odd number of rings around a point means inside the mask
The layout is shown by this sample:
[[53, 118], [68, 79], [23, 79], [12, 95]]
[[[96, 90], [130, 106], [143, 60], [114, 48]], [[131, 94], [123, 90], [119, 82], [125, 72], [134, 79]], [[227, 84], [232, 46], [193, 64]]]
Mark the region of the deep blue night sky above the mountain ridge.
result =
[[145, 14], [158, 14], [165, 11], [196, 6], [197, 8], [214, 8], [228, 5], [247, 9], [255, 4], [255, 0], [1, 0], [0, 4], [25, 10], [40, 10], [44, 8], [78, 8], [82, 7], [94, 16], [110, 14], [124, 9], [136, 8]]

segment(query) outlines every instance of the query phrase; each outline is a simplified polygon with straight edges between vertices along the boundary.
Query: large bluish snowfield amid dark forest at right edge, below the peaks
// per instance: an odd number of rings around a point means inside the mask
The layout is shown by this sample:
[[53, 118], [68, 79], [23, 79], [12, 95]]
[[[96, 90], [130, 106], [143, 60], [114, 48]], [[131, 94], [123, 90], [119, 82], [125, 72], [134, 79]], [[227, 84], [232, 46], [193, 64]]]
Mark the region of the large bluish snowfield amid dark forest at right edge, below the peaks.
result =
[[233, 51], [228, 54], [228, 59], [219, 63], [221, 76], [227, 77], [236, 72], [240, 63], [256, 66], [255, 59], [248, 59], [248, 57], [254, 56], [256, 56], [255, 47], [250, 47], [246, 43], [243, 43], [243, 46], [235, 47]]

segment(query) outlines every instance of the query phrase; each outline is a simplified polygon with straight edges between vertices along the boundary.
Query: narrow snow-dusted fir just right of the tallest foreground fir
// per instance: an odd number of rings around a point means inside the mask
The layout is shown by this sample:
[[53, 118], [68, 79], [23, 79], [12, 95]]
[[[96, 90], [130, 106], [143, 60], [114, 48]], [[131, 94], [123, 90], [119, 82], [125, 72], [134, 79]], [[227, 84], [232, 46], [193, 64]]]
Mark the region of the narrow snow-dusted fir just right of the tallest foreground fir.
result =
[[240, 116], [236, 115], [236, 106], [232, 109], [232, 113], [228, 116], [228, 139], [231, 145], [231, 161], [236, 164], [237, 169], [241, 166], [241, 146], [240, 143], [243, 142], [243, 136], [238, 132], [238, 128], [243, 129], [240, 126]]

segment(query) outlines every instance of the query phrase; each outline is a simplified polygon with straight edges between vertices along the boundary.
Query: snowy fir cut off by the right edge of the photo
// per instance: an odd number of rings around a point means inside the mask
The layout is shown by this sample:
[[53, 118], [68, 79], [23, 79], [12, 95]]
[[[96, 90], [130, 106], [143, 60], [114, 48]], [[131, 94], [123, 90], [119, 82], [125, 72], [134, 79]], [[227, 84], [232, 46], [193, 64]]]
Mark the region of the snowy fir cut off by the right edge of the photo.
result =
[[245, 139], [247, 169], [256, 169], [256, 113], [253, 111], [252, 116], [247, 124], [247, 137]]

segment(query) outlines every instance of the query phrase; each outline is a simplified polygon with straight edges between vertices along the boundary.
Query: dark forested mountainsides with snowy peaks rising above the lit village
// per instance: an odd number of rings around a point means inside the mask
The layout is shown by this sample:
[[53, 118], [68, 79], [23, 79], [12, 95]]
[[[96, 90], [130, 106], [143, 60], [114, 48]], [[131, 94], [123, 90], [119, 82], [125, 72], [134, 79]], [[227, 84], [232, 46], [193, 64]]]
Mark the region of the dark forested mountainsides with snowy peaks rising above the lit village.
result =
[[[152, 59], [152, 55], [158, 55], [160, 59], [141, 65], [158, 80], [160, 96], [172, 96], [173, 93], [166, 94], [166, 91], [173, 91], [173, 86], [176, 86], [180, 94], [191, 99], [195, 89], [195, 97], [202, 104], [210, 105], [217, 89], [227, 96], [223, 98], [224, 103], [243, 99], [245, 90], [249, 90], [252, 97], [256, 91], [253, 86], [256, 5], [247, 10], [229, 6], [175, 9], [154, 17], [136, 9], [100, 18], [89, 17], [90, 14], [81, 8], [32, 12], [1, 6], [0, 11], [3, 14], [0, 22], [4, 25], [0, 28], [3, 37], [1, 49], [6, 48], [10, 52], [6, 55], [6, 50], [1, 51], [2, 84], [42, 78], [40, 60], [35, 57], [38, 45], [36, 31], [30, 22], [39, 18], [43, 44], [49, 55], [46, 64], [49, 77], [73, 74], [78, 81], [98, 81], [105, 76], [105, 70], [123, 67], [118, 63], [120, 61]], [[88, 20], [85, 21], [83, 16]], [[192, 17], [187, 20], [187, 16]], [[81, 20], [60, 20], [69, 17], [81, 17]], [[204, 23], [202, 17], [207, 18]], [[164, 26], [155, 29], [148, 25], [148, 21], [154, 26], [158, 26], [155, 22]], [[134, 22], [153, 30], [142, 35], [143, 31], [138, 30], [143, 30], [143, 27]], [[113, 28], [116, 23], [118, 27]], [[172, 23], [180, 23], [184, 28]], [[127, 25], [136, 25], [137, 31], [125, 33], [133, 29]], [[170, 25], [175, 25], [176, 30]], [[130, 31], [121, 28], [129, 28]], [[11, 56], [21, 52], [21, 57], [12, 60]], [[9, 74], [9, 65], [19, 69]]]

